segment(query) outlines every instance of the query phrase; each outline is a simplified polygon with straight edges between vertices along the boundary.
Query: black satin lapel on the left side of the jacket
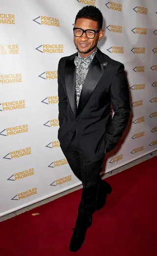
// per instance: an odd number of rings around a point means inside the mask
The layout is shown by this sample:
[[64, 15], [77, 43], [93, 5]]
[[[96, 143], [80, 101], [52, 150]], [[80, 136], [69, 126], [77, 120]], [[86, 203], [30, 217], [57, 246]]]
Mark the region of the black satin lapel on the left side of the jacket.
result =
[[76, 66], [74, 60], [67, 60], [65, 64], [65, 85], [69, 103], [71, 108], [76, 115], [77, 103], [76, 103], [76, 92], [75, 92], [75, 79], [76, 79]]

